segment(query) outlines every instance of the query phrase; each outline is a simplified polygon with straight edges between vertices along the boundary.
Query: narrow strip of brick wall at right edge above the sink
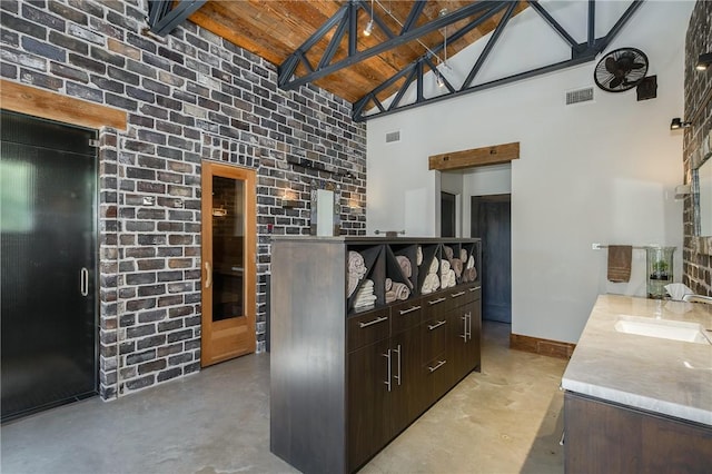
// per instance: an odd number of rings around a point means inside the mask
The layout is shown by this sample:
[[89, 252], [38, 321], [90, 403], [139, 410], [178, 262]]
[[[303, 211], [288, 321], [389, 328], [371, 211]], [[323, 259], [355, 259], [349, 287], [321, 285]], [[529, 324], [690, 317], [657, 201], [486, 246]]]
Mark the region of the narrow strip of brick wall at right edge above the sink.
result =
[[[685, 39], [684, 120], [692, 126], [684, 131], [684, 180], [692, 181], [692, 169], [704, 155], [712, 131], [712, 68], [695, 70], [698, 58], [712, 51], [712, 2], [698, 0]], [[684, 200], [683, 283], [696, 294], [712, 296], [712, 237], [698, 237], [694, 231], [692, 195]]]

